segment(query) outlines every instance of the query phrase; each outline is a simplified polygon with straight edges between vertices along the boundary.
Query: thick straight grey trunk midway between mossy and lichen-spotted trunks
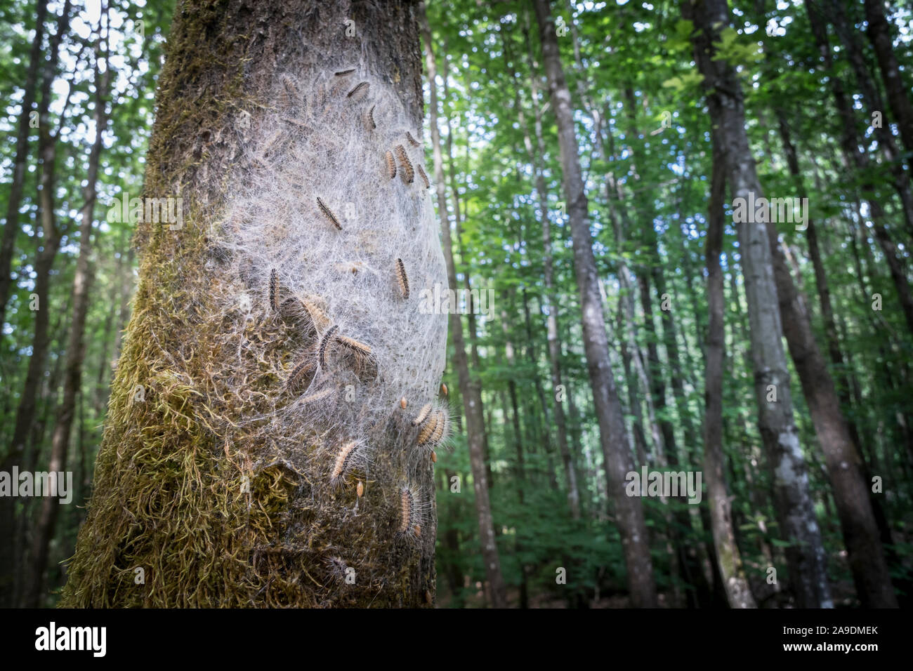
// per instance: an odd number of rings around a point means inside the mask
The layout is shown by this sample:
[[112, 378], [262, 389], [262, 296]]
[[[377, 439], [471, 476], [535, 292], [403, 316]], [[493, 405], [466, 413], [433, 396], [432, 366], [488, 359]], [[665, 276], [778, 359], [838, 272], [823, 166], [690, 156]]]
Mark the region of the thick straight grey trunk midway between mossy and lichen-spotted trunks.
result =
[[638, 498], [624, 493], [625, 476], [634, 469], [624, 428], [621, 402], [615, 391], [609, 363], [608, 339], [605, 333], [603, 304], [599, 294], [593, 237], [588, 224], [587, 198], [583, 191], [580, 158], [568, 90], [558, 53], [554, 20], [548, 0], [534, 0], [539, 23], [542, 59], [549, 80], [551, 107], [558, 123], [562, 179], [573, 239], [574, 272], [580, 291], [583, 349], [586, 354], [593, 401], [599, 422], [600, 441], [610, 496], [614, 500], [615, 519], [624, 546], [628, 572], [628, 589], [635, 607], [656, 605], [653, 562], [647, 544], [644, 509]]

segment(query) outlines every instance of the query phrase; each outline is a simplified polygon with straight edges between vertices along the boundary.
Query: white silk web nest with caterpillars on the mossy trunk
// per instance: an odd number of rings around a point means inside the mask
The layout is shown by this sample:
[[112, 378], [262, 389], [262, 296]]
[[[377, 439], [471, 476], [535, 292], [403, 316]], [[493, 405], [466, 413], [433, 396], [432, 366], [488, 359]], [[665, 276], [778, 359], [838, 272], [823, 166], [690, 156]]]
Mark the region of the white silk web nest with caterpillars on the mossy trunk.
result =
[[[394, 435], [399, 482], [383, 486], [403, 507], [449, 432], [432, 298], [446, 267], [421, 131], [358, 68], [274, 86], [277, 110], [236, 123], [242, 155], [209, 236], [226, 331], [212, 379], [243, 408], [226, 433], [256, 445], [261, 466], [306, 470], [318, 489], [357, 482], [359, 496]], [[418, 526], [403, 517], [404, 532]]]

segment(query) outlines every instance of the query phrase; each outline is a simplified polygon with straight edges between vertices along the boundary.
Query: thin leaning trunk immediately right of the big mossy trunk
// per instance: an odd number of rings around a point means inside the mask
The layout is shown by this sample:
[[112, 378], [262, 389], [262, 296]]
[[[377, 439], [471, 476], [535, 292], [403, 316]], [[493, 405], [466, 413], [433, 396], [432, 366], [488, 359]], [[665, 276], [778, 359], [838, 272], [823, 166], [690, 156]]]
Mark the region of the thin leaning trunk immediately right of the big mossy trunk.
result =
[[[425, 3], [418, 4], [422, 37], [425, 39], [425, 67], [430, 82], [430, 117], [431, 142], [435, 158], [435, 180], [437, 207], [441, 217], [441, 230], [444, 234], [444, 256], [446, 258], [448, 287], [456, 289], [456, 268], [454, 267], [453, 246], [450, 241], [450, 217], [447, 215], [446, 191], [444, 183], [444, 161], [441, 154], [441, 138], [437, 130], [437, 87], [435, 53], [432, 48], [431, 29], [425, 16]], [[493, 608], [507, 606], [507, 592], [501, 576], [501, 561], [498, 555], [498, 544], [494, 523], [491, 516], [491, 503], [488, 500], [488, 477], [485, 467], [485, 421], [482, 406], [482, 393], [477, 380], [469, 376], [466, 341], [463, 337], [463, 325], [458, 312], [450, 315], [450, 327], [454, 342], [454, 361], [459, 379], [460, 393], [463, 397], [463, 411], [466, 414], [466, 426], [469, 443], [469, 461], [472, 467], [473, 488], [476, 494], [476, 514], [478, 521], [478, 538], [482, 545], [482, 560], [485, 562], [485, 573]]]

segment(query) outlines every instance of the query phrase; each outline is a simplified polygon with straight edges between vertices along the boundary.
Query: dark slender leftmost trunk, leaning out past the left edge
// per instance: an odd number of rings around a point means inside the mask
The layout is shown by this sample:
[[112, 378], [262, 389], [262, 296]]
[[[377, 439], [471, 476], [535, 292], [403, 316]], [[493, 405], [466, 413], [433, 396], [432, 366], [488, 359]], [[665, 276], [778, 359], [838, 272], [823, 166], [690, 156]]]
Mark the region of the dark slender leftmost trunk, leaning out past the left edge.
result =
[[[69, 9], [69, 3], [67, 3]], [[28, 161], [28, 131], [32, 106], [35, 104], [35, 91], [38, 83], [38, 67], [44, 58], [41, 45], [45, 39], [45, 18], [47, 17], [47, 0], [37, 0], [35, 4], [35, 38], [32, 50], [28, 55], [26, 81], [23, 82], [22, 110], [19, 112], [19, 123], [16, 128], [16, 158], [13, 160], [13, 175], [9, 184], [9, 201], [6, 203], [6, 219], [3, 237], [0, 238], [0, 327], [6, 316], [6, 301], [9, 300], [13, 285], [10, 276], [13, 253], [16, 249], [16, 234], [19, 232], [19, 208], [22, 206], [22, 191], [26, 181], [26, 163]], [[2, 558], [0, 554], [0, 558]], [[0, 584], [0, 606], [4, 605], [5, 588]]]

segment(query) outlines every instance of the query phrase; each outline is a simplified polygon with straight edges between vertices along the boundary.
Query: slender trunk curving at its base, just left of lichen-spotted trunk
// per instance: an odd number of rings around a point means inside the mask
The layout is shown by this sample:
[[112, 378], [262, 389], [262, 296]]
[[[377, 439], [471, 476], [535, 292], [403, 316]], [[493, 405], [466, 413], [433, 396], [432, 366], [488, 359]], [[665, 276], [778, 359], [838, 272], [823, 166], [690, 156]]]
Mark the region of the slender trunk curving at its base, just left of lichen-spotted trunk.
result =
[[709, 314], [707, 338], [707, 370], [705, 372], [704, 470], [707, 477], [707, 498], [716, 558], [722, 574], [726, 598], [731, 608], [755, 608], [748, 580], [742, 568], [739, 545], [732, 527], [732, 506], [723, 475], [723, 355], [726, 348], [724, 332], [725, 303], [723, 270], [719, 255], [723, 250], [726, 195], [724, 158], [719, 142], [714, 140], [713, 175], [710, 180], [710, 204], [707, 230], [707, 303]]

